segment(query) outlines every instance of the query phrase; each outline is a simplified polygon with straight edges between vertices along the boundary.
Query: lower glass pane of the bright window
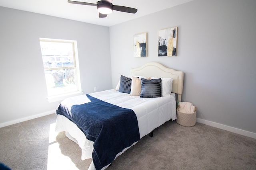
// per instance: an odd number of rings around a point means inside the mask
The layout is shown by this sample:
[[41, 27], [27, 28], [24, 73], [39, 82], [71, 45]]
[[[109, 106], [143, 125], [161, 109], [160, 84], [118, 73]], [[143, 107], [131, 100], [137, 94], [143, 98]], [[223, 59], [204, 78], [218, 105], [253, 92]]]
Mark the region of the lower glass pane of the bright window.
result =
[[74, 68], [45, 70], [44, 72], [49, 96], [77, 91]]

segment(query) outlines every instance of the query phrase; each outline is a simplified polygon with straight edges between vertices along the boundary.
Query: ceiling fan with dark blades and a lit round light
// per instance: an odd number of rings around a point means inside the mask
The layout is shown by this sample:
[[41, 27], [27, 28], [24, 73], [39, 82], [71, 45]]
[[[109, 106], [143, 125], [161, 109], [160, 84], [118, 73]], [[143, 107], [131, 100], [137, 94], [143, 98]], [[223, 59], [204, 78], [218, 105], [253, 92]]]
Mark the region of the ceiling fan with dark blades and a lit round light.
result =
[[78, 2], [78, 1], [68, 0], [68, 3], [80, 4], [80, 5], [89, 5], [89, 6], [97, 6], [97, 10], [99, 12], [99, 17], [100, 18], [107, 17], [107, 15], [110, 14], [113, 10], [120, 11], [120, 12], [128, 12], [128, 13], [132, 13], [132, 14], [135, 14], [138, 11], [135, 8], [113, 5], [112, 0], [101, 0], [101, 1], [98, 1], [96, 4], [92, 4], [92, 3], [88, 3], [88, 2]]

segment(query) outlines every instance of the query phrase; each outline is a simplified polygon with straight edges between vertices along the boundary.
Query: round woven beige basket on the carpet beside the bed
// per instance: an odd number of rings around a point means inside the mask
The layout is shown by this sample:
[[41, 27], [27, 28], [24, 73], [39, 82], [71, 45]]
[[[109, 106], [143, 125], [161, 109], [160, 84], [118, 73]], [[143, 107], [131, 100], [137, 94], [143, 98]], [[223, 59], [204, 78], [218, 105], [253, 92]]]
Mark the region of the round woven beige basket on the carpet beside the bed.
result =
[[176, 122], [182, 126], [190, 127], [196, 124], [196, 109], [194, 113], [182, 113], [177, 108]]

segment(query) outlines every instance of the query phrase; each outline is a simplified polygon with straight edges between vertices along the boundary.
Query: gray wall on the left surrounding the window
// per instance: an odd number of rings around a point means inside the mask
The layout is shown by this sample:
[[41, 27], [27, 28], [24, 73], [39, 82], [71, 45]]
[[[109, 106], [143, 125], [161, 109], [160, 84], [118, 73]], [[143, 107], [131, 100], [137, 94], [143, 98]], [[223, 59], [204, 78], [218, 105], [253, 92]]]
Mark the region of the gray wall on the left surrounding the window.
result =
[[0, 123], [55, 110], [39, 38], [76, 40], [84, 94], [112, 88], [109, 27], [0, 7]]

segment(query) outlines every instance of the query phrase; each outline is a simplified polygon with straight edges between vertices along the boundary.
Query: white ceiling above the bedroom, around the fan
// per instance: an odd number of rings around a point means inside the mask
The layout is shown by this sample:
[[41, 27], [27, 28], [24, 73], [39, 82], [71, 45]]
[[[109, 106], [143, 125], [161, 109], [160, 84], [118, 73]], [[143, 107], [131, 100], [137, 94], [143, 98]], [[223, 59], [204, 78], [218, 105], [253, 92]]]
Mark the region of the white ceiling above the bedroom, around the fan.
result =
[[[96, 4], [98, 0], [75, 0]], [[0, 0], [0, 6], [70, 20], [112, 26], [139, 18], [192, 0], [113, 0], [113, 5], [138, 9], [136, 14], [113, 11], [106, 18], [98, 18], [96, 6], [70, 4], [67, 0]]]

